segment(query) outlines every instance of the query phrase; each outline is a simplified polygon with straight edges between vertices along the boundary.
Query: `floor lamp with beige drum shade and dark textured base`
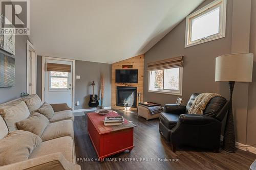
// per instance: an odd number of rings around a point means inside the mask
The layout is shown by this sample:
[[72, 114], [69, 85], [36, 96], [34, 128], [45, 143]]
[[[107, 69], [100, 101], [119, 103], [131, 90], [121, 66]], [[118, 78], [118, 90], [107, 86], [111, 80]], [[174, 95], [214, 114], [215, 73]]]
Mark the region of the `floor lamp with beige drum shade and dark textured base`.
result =
[[234, 136], [232, 93], [235, 82], [251, 82], [252, 80], [252, 53], [236, 53], [216, 58], [215, 81], [229, 82], [230, 108], [227, 113], [222, 148], [236, 152], [236, 139]]

